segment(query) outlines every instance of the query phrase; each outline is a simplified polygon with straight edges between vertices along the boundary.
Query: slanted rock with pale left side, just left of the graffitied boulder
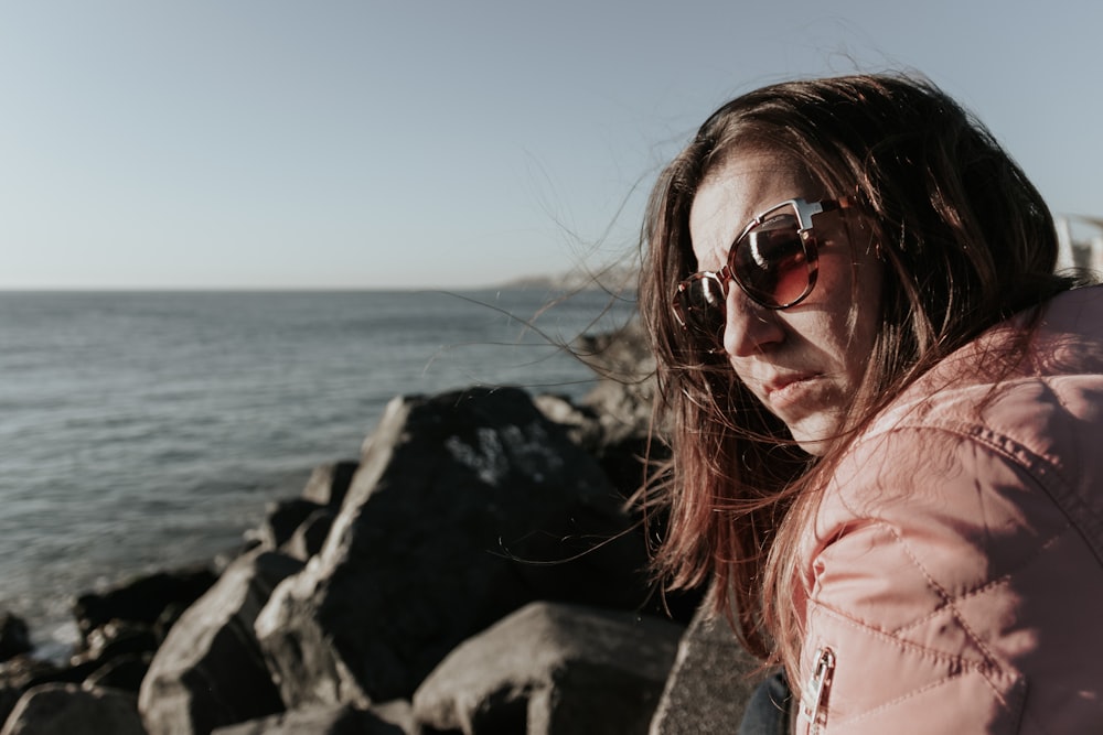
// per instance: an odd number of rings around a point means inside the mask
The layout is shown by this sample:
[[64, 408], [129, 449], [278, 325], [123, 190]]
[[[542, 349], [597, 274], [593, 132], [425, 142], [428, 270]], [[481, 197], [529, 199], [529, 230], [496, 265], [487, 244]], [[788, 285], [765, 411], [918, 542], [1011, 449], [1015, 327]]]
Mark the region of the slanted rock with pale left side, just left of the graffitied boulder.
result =
[[139, 693], [151, 735], [206, 733], [282, 711], [253, 625], [272, 588], [301, 568], [282, 554], [251, 552], [180, 616]]

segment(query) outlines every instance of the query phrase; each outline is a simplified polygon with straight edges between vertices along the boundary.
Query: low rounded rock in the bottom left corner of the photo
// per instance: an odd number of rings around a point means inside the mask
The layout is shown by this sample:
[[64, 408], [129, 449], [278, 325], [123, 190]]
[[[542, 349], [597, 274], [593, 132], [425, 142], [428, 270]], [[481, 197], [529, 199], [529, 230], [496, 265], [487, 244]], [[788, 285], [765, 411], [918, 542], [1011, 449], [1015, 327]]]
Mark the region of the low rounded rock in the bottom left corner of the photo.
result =
[[28, 691], [0, 735], [146, 735], [133, 696], [77, 684], [42, 684]]

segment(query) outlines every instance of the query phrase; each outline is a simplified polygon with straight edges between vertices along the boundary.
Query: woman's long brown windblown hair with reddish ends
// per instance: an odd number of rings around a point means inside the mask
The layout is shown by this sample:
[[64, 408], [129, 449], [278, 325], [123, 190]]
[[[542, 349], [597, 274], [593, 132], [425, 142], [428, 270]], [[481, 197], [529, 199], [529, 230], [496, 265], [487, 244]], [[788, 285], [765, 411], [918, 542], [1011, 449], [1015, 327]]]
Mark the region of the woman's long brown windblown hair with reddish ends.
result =
[[[850, 197], [882, 260], [879, 328], [845, 425], [822, 457], [671, 313], [697, 270], [689, 209], [732, 151], [800, 163]], [[718, 109], [658, 177], [643, 225], [640, 307], [657, 360], [656, 425], [673, 460], [645, 498], [665, 508], [654, 568], [672, 587], [711, 584], [747, 648], [794, 664], [791, 516], [840, 451], [907, 385], [985, 328], [1070, 288], [1038, 191], [988, 131], [927, 80], [856, 75], [778, 84]], [[790, 521], [786, 522], [786, 518]]]

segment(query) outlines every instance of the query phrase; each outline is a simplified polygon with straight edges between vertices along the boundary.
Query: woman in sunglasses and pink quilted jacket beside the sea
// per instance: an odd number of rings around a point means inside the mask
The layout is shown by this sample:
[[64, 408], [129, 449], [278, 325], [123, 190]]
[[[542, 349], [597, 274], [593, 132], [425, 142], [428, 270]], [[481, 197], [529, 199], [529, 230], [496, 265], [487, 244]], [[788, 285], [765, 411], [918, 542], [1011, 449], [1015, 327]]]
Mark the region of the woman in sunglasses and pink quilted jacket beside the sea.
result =
[[656, 569], [781, 664], [783, 725], [1103, 732], [1103, 293], [987, 131], [902, 76], [759, 89], [643, 239]]

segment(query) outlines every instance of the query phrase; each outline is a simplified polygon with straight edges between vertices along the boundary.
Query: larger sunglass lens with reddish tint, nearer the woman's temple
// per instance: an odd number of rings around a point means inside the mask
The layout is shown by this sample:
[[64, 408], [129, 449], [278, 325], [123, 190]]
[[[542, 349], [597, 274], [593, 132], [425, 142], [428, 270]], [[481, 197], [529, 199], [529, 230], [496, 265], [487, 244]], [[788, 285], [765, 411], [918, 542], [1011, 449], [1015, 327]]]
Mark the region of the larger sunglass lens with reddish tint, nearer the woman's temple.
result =
[[751, 298], [772, 307], [788, 306], [811, 284], [807, 251], [800, 226], [790, 215], [751, 229], [731, 252], [731, 270]]

